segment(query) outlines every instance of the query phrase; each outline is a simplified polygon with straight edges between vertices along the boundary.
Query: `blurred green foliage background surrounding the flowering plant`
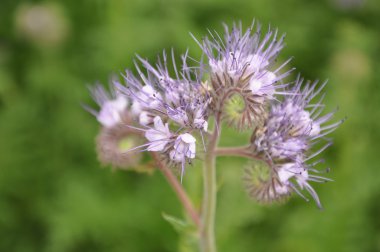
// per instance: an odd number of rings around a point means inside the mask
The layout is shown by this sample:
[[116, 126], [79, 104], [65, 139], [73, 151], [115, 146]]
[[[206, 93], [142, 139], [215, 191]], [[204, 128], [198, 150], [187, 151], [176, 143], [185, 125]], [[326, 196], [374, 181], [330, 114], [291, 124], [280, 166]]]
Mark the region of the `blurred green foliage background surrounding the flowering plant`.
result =
[[[219, 160], [219, 251], [380, 251], [378, 0], [1, 0], [0, 251], [179, 251], [162, 212], [183, 213], [163, 176], [98, 164], [85, 85], [131, 68], [135, 53], [199, 57], [190, 31], [253, 18], [287, 33], [280, 60], [329, 78], [328, 108], [348, 121], [323, 155], [335, 180], [315, 185], [324, 211], [299, 197], [260, 206], [244, 191], [245, 161]], [[229, 130], [222, 144], [246, 137]], [[184, 179], [194, 197], [198, 178], [194, 167]]]

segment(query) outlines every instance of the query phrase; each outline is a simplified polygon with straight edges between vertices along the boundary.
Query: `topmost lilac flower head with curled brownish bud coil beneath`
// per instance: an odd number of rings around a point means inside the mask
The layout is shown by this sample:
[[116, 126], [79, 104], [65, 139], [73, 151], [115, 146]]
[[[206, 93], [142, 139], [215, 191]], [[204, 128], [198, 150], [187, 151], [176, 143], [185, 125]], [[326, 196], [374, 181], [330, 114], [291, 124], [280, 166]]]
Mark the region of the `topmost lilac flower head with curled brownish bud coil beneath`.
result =
[[[287, 84], [279, 84], [292, 71], [279, 71], [290, 61], [287, 60], [273, 69], [277, 55], [284, 47], [284, 35], [270, 30], [261, 39], [261, 26], [254, 23], [243, 32], [241, 24], [230, 31], [225, 25], [225, 38], [210, 32], [198, 42], [208, 58], [211, 75], [212, 101], [216, 111], [223, 111], [231, 125], [238, 129], [252, 127], [265, 117], [265, 105], [274, 95], [283, 94]], [[242, 107], [225, 108], [228, 100], [239, 99]], [[227, 103], [227, 105], [226, 105]], [[227, 110], [227, 111], [226, 111]], [[236, 113], [228, 113], [237, 110]], [[227, 112], [227, 113], [226, 113]]]

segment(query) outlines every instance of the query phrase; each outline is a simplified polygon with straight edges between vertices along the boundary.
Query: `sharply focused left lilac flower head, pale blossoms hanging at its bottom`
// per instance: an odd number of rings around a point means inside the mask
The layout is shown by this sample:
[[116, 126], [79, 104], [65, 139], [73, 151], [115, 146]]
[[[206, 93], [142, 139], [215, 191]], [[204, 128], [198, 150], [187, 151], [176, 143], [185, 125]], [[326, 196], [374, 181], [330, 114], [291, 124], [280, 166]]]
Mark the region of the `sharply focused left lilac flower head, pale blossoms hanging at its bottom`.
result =
[[136, 63], [139, 77], [127, 71], [126, 86], [115, 83], [132, 103], [132, 116], [137, 123], [132, 127], [145, 132], [147, 139], [146, 144], [131, 150], [160, 152], [168, 163], [180, 164], [182, 175], [186, 163], [196, 155], [194, 133], [198, 132], [203, 139], [208, 130], [211, 100], [201, 84], [201, 69], [189, 67], [187, 57], [187, 53], [182, 56], [182, 67], [178, 71], [172, 53], [174, 77], [169, 74], [165, 52], [156, 66], [138, 57], [142, 65]]

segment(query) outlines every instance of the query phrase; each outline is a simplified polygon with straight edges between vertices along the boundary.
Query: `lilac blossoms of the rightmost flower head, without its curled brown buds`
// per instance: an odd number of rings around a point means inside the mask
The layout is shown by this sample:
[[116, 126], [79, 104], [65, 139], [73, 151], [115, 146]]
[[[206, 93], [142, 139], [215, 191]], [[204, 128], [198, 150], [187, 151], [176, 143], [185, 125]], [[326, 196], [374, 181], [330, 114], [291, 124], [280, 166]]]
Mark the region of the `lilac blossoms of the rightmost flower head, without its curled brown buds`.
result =
[[[298, 78], [295, 86], [289, 90], [292, 95], [286, 96], [284, 101], [272, 105], [268, 118], [262, 127], [256, 129], [252, 146], [257, 155], [273, 163], [272, 169], [276, 174], [280, 185], [287, 188], [286, 191], [295, 191], [304, 197], [297, 189], [306, 189], [317, 205], [321, 207], [318, 195], [308, 181], [326, 182], [329, 179], [310, 175], [310, 171], [316, 171], [306, 162], [319, 155], [331, 145], [328, 141], [321, 149], [312, 151], [312, 147], [323, 137], [335, 130], [344, 120], [329, 125], [324, 125], [333, 116], [334, 112], [319, 117], [324, 105], [324, 95], [312, 104], [326, 82], [317, 88], [318, 81], [307, 82], [302, 88], [303, 79]], [[290, 180], [294, 179], [296, 183]], [[276, 185], [271, 188], [275, 191]], [[283, 191], [280, 187], [280, 191]], [[280, 194], [279, 192], [277, 192]], [[273, 194], [273, 192], [269, 192]], [[270, 197], [267, 195], [267, 197]], [[305, 197], [304, 197], [305, 198]]]

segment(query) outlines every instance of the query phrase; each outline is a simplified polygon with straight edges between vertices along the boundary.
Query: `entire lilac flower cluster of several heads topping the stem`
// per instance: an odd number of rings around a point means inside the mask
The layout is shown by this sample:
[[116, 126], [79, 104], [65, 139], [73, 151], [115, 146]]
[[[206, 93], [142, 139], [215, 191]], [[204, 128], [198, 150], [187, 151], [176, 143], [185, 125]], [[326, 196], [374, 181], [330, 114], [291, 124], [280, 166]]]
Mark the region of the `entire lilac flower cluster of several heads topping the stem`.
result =
[[[246, 31], [241, 24], [231, 30], [225, 26], [224, 38], [210, 32], [196, 40], [205, 61], [193, 60], [195, 66], [188, 65], [187, 52], [180, 68], [173, 52], [170, 60], [164, 52], [155, 65], [137, 57], [137, 74], [127, 70], [125, 84], [114, 81], [111, 94], [101, 86], [91, 89], [100, 110], [89, 110], [104, 128], [139, 132], [146, 142], [126, 153], [158, 152], [168, 165], [180, 169], [181, 180], [186, 165], [207, 151], [209, 118], [215, 119], [218, 132], [223, 120], [232, 122], [239, 130], [253, 132], [251, 155], [269, 166], [270, 178], [253, 188], [259, 201], [291, 192], [304, 197], [305, 189], [320, 206], [309, 182], [328, 179], [312, 174], [318, 172], [318, 161], [309, 161], [331, 144], [327, 140], [313, 152], [341, 121], [326, 125], [333, 113], [320, 116], [323, 95], [316, 99], [325, 83], [285, 81], [293, 69], [288, 67], [290, 59], [277, 62], [284, 36], [272, 29], [262, 34], [261, 26], [254, 24]], [[236, 97], [243, 106], [232, 116], [227, 104]]]

